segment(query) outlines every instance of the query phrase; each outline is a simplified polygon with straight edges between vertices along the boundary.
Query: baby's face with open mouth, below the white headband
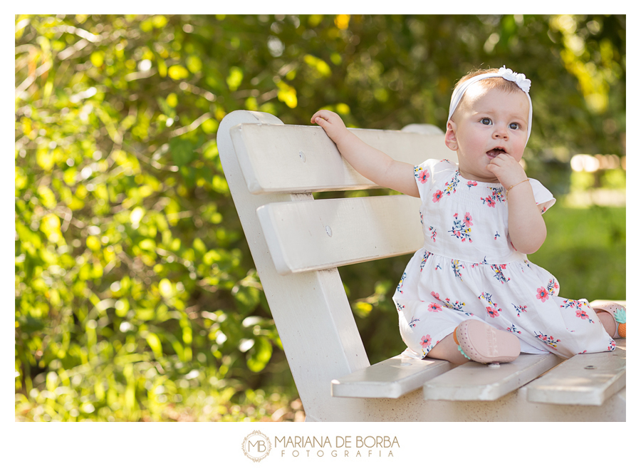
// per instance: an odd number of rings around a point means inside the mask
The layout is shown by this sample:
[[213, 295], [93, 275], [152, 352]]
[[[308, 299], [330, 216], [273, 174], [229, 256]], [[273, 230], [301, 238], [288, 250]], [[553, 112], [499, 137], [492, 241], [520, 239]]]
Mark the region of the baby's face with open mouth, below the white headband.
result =
[[498, 182], [486, 166], [500, 153], [516, 161], [528, 139], [530, 103], [525, 93], [486, 89], [474, 83], [452, 116], [459, 172], [469, 180]]

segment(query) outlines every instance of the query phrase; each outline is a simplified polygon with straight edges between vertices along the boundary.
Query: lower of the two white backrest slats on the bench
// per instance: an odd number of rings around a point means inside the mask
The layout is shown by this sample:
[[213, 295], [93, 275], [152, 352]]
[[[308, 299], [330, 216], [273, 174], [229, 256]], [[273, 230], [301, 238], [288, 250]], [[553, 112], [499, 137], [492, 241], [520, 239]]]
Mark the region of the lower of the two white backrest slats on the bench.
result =
[[276, 272], [291, 274], [415, 252], [420, 205], [407, 195], [350, 197], [272, 203], [256, 215]]

